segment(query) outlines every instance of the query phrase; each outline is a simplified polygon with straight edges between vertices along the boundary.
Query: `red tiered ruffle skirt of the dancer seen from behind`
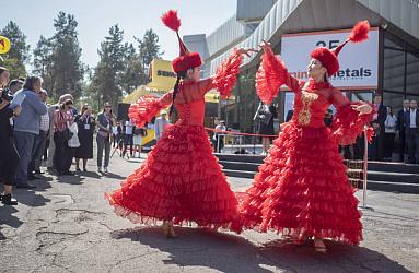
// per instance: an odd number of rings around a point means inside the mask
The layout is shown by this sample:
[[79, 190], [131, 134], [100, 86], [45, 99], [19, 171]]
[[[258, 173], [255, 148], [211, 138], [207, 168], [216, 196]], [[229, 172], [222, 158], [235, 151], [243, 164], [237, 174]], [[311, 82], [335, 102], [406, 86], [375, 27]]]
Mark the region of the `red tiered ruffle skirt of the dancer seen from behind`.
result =
[[200, 126], [171, 126], [142, 166], [106, 193], [115, 213], [132, 223], [196, 222], [241, 232], [237, 200]]

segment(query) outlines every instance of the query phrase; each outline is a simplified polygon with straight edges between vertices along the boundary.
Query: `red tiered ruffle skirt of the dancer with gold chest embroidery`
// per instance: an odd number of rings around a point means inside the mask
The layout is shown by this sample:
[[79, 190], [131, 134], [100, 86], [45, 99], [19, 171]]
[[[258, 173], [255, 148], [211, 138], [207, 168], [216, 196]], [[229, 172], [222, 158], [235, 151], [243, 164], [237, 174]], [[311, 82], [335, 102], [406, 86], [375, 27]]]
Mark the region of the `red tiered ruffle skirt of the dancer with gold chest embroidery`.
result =
[[330, 129], [281, 130], [241, 204], [244, 225], [357, 245], [361, 214]]

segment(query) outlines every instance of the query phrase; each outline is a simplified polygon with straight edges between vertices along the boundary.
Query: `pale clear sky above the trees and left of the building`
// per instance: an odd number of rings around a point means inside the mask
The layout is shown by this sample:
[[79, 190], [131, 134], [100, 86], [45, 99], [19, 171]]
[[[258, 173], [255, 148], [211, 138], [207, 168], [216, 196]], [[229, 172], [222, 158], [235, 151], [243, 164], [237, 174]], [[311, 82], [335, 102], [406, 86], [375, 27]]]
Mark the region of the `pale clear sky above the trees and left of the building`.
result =
[[[97, 49], [110, 26], [119, 24], [125, 41], [135, 43], [152, 28], [160, 38], [163, 58], [172, 60], [178, 54], [176, 35], [163, 25], [160, 16], [170, 9], [177, 10], [182, 21], [179, 34], [206, 34], [216, 31], [236, 11], [236, 0], [1, 0], [3, 28], [14, 21], [26, 35], [31, 51], [40, 35], [51, 37], [54, 19], [59, 11], [73, 14], [79, 23], [79, 43], [82, 61], [94, 67]], [[7, 12], [5, 12], [7, 11]]]

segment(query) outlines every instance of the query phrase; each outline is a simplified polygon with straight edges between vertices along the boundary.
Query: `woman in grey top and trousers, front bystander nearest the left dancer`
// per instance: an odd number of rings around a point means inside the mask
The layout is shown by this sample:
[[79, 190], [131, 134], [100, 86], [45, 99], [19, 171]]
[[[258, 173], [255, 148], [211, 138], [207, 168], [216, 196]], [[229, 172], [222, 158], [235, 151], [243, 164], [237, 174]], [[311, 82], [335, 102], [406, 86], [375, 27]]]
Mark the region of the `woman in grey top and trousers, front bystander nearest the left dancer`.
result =
[[102, 158], [103, 150], [105, 150], [105, 162], [103, 170], [107, 173], [107, 166], [109, 165], [110, 155], [110, 133], [112, 127], [116, 124], [115, 117], [112, 112], [112, 106], [109, 103], [105, 103], [103, 111], [97, 116], [97, 171], [102, 173]]

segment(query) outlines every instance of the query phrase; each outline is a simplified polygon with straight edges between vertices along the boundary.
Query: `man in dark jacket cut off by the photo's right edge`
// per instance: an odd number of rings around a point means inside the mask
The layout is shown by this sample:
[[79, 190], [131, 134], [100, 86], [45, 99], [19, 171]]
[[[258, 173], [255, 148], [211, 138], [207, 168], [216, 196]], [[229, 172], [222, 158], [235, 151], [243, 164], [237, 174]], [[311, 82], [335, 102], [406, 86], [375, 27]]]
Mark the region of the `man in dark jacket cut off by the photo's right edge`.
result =
[[419, 162], [419, 110], [418, 103], [410, 100], [410, 109], [405, 114], [406, 140], [409, 163]]

